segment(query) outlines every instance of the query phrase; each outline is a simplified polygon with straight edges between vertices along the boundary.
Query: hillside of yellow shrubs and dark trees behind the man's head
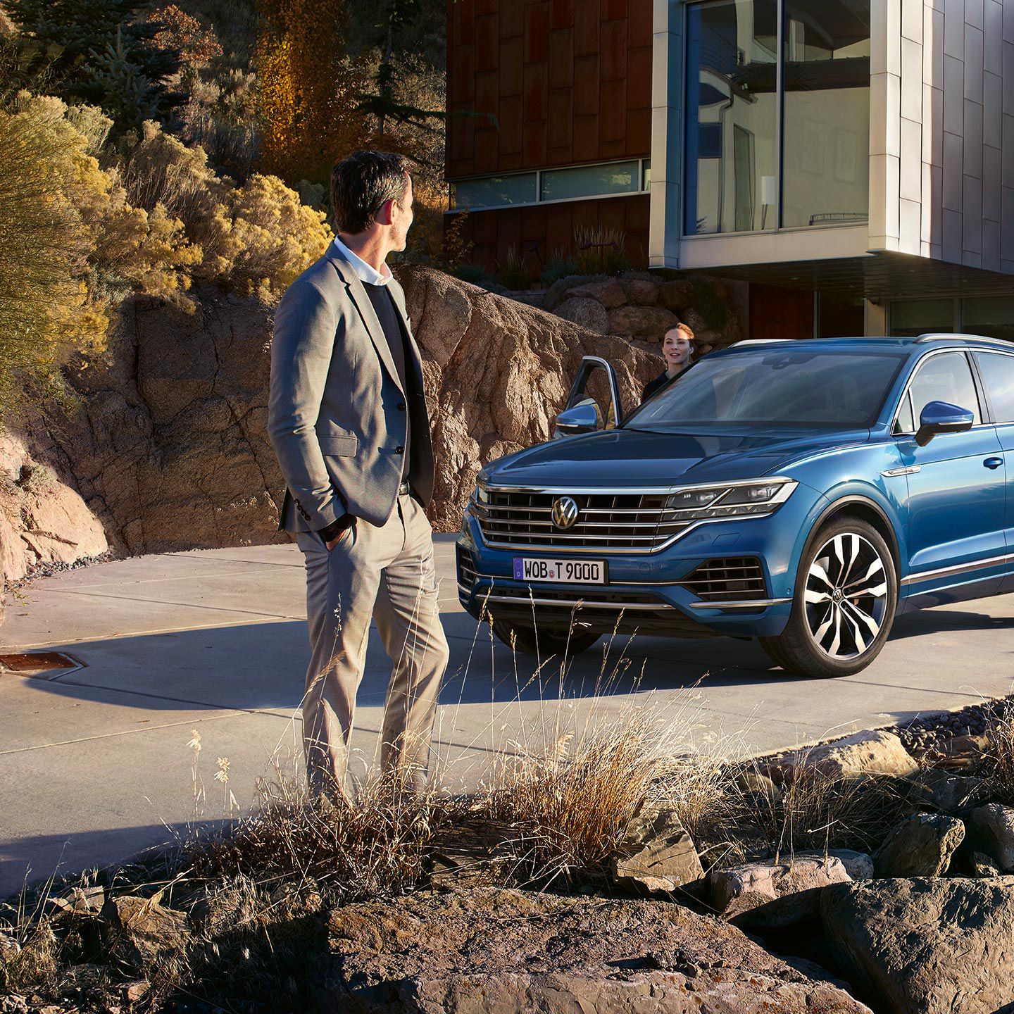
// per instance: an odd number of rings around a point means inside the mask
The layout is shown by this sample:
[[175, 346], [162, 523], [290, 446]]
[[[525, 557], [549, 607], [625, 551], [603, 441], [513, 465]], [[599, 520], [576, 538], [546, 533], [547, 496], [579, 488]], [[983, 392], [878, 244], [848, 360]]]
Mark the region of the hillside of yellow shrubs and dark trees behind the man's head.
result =
[[360, 147], [417, 160], [410, 260], [446, 207], [433, 0], [4, 0], [0, 418], [100, 355], [131, 293], [277, 299]]

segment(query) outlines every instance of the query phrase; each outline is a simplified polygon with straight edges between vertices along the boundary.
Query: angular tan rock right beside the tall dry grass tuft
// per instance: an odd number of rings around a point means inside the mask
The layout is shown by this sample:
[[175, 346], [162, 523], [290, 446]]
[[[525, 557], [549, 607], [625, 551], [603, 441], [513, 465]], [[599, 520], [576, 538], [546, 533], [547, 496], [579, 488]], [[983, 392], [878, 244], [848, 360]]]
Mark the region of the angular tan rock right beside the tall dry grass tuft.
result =
[[676, 812], [646, 805], [631, 821], [612, 875], [623, 886], [671, 891], [700, 880], [704, 869]]

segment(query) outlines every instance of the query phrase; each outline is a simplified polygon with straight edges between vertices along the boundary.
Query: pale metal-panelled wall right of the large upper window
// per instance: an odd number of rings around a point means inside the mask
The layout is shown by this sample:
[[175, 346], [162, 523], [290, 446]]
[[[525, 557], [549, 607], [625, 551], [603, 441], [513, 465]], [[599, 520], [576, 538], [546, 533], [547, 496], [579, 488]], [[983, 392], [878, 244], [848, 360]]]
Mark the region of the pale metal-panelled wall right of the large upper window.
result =
[[873, 0], [871, 37], [870, 249], [1014, 273], [1014, 0]]

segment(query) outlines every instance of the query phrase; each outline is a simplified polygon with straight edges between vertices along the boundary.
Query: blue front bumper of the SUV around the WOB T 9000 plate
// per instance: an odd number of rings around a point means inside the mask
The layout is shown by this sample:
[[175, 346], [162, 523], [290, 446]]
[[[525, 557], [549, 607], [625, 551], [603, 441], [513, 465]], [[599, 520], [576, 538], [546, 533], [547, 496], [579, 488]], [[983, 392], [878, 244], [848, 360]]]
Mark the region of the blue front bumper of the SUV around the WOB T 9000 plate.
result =
[[[567, 628], [577, 623], [603, 633], [776, 637], [789, 621], [798, 557], [819, 499], [816, 491], [801, 487], [774, 514], [708, 521], [657, 553], [604, 550], [595, 557], [607, 561], [606, 585], [515, 580], [515, 557], [574, 557], [559, 549], [488, 546], [476, 519], [465, 513], [457, 541], [458, 597], [477, 620], [492, 615], [514, 625]], [[682, 585], [702, 564], [728, 558], [759, 562], [764, 598], [718, 602]]]

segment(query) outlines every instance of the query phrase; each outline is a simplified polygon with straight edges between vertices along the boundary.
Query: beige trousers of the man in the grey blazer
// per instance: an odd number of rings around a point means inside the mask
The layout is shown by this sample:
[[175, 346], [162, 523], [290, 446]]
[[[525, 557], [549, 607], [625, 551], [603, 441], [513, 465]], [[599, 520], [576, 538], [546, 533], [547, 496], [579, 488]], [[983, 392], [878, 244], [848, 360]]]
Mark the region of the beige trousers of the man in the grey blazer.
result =
[[302, 712], [311, 792], [349, 795], [349, 736], [371, 620], [391, 660], [381, 767], [421, 789], [448, 658], [425, 512], [400, 496], [386, 524], [359, 518], [330, 553], [315, 533], [300, 532], [296, 541], [306, 560], [310, 664]]

